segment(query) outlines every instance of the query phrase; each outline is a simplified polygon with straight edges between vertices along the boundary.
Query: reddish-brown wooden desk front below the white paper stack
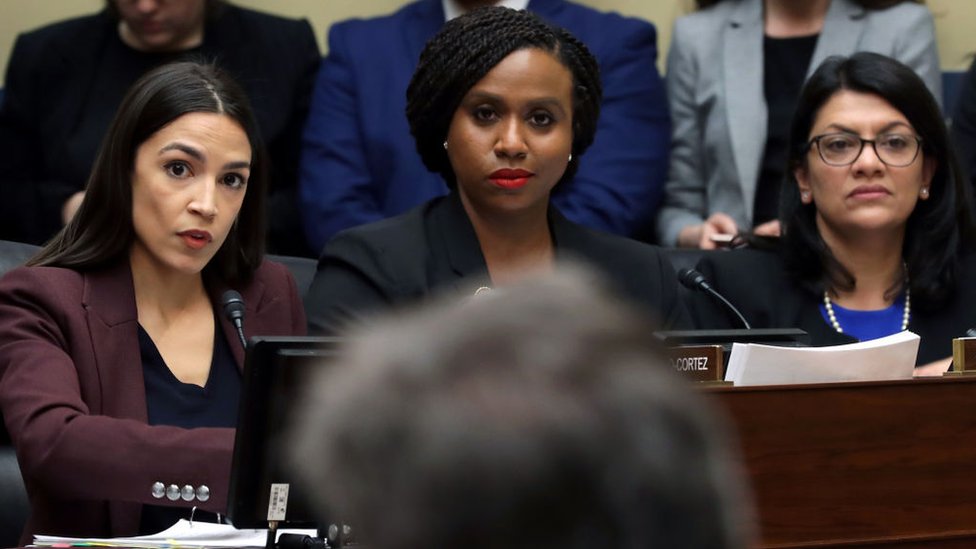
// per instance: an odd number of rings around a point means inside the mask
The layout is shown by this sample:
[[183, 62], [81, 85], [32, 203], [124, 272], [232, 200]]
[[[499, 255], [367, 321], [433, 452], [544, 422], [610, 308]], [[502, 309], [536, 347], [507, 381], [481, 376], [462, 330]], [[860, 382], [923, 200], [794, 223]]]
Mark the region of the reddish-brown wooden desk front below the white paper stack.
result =
[[764, 547], [976, 547], [976, 378], [705, 390]]

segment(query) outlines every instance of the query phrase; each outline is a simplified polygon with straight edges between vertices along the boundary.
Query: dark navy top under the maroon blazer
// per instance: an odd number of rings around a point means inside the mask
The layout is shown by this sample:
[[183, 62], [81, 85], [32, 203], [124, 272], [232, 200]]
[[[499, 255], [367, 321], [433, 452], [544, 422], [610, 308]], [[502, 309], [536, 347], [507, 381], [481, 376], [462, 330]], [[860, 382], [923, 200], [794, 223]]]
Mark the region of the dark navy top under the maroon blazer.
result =
[[[241, 394], [241, 373], [227, 338], [214, 315], [214, 351], [210, 377], [204, 387], [183, 383], [166, 366], [149, 334], [139, 326], [139, 354], [146, 384], [146, 407], [150, 425], [194, 427], [237, 427]], [[165, 482], [165, 479], [160, 479]], [[190, 518], [190, 508], [143, 505], [139, 532], [152, 534]], [[213, 513], [197, 510], [193, 520], [216, 522]]]

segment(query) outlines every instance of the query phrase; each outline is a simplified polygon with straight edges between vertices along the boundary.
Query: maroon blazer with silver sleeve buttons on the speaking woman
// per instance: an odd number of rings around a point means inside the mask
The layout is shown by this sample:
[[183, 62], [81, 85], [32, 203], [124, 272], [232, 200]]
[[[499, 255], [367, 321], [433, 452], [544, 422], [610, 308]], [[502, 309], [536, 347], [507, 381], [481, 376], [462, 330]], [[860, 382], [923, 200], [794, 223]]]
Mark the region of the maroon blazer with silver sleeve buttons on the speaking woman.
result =
[[[225, 288], [214, 288], [219, 303]], [[245, 335], [305, 333], [288, 270], [265, 261], [244, 297]], [[242, 367], [243, 350], [222, 325]], [[143, 504], [227, 508], [234, 430], [146, 423], [146, 389], [128, 262], [80, 273], [23, 267], [0, 280], [0, 408], [31, 502], [35, 533], [134, 535]], [[207, 485], [199, 501], [156, 499], [156, 482]]]

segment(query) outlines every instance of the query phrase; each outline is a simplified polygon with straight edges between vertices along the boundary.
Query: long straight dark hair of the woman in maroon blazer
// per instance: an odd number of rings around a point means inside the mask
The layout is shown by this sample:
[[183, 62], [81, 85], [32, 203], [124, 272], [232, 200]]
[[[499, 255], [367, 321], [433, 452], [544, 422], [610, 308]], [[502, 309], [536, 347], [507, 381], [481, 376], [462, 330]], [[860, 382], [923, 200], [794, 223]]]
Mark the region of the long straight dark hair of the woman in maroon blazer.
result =
[[232, 118], [251, 144], [251, 175], [237, 221], [204, 268], [211, 281], [236, 286], [250, 280], [264, 255], [264, 147], [244, 91], [216, 66], [194, 62], [163, 65], [132, 85], [105, 134], [78, 213], [28, 264], [87, 270], [122, 260], [135, 240], [136, 151], [163, 126], [193, 112]]

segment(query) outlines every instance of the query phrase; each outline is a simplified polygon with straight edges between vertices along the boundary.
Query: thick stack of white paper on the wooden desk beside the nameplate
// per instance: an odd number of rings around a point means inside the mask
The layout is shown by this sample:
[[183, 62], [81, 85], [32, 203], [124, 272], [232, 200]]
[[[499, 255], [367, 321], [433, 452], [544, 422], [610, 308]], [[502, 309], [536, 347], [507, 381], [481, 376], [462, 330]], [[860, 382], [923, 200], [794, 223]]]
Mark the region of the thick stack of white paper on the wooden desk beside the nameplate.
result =
[[832, 347], [734, 343], [725, 380], [734, 385], [790, 385], [910, 379], [919, 337], [909, 331]]

